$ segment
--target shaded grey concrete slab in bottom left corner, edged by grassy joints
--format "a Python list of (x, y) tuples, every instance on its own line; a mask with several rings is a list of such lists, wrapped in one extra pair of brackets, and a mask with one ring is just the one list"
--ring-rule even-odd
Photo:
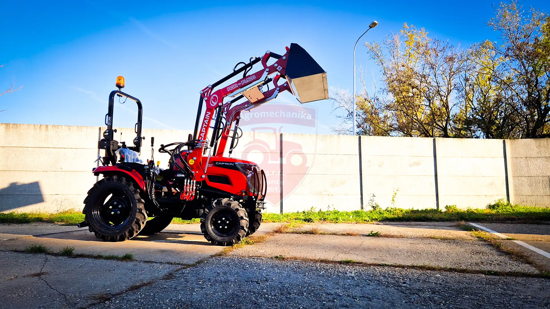
[(83, 308), (178, 268), (0, 251), (0, 308)]

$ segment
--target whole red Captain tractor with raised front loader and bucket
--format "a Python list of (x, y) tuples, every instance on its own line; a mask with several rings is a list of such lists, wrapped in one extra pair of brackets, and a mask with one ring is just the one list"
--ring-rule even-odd
[[(262, 68), (248, 74), (259, 62)], [(241, 73), (242, 78), (222, 86)], [(271, 101), (283, 91), (289, 91), (301, 103), (327, 99), (326, 76), (305, 49), (295, 43), (283, 55), (267, 51), (262, 57), (250, 58), (248, 63), (238, 63), (231, 74), (200, 91), (195, 130), (188, 141), (161, 145), (158, 149), (170, 155), (168, 169), (158, 168), (153, 160), (145, 163), (139, 159), (141, 141), (145, 139), (141, 136), (141, 102), (120, 91), (124, 78), (119, 76), (118, 90), (109, 95), (107, 130), (98, 143), (98, 148), (105, 150), (103, 165), (93, 170), (103, 179), (88, 191), (85, 220), (78, 226), (89, 227), (90, 232), (105, 241), (124, 241), (138, 234), (158, 233), (174, 217), (200, 218), (205, 238), (224, 246), (254, 233), (265, 208), (265, 173), (254, 162), (224, 157), (228, 140), (230, 155), (241, 136), (240, 112)], [(124, 142), (119, 145), (114, 140), (115, 96), (138, 104), (134, 146)], [(153, 142), (151, 137), (151, 146)]]

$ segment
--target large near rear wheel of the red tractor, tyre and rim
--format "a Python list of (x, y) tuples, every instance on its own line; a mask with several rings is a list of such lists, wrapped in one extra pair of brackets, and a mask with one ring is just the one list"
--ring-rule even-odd
[(84, 200), (89, 230), (103, 241), (131, 239), (145, 227), (147, 213), (140, 189), (122, 176), (107, 176)]

